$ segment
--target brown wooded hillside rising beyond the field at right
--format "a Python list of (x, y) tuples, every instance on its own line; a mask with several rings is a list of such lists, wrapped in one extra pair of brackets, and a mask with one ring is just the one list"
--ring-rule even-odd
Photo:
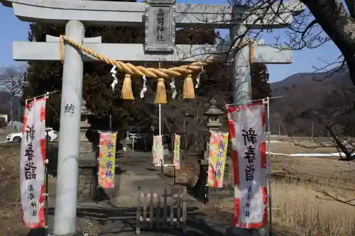
[[(285, 96), (271, 102), (271, 132), (278, 133), (280, 125), (283, 135), (310, 135), (312, 122), (314, 134), (325, 135), (324, 124), (315, 116), (320, 113), (322, 120), (329, 120), (339, 107), (349, 106), (355, 88), (346, 69), (339, 68), (322, 73), (300, 73), (271, 84), (273, 96)], [(355, 115), (351, 115), (355, 118)], [(346, 123), (349, 116), (337, 123)]]

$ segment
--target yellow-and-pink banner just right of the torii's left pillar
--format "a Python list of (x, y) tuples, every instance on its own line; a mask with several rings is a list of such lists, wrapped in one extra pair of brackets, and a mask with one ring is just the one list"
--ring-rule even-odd
[(114, 188), (117, 133), (100, 133), (99, 144), (99, 186)]

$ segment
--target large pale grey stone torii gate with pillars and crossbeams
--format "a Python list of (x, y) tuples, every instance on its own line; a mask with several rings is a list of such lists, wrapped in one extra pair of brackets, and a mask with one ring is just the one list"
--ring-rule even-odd
[[(304, 10), (297, 0), (288, 1), (275, 16), (270, 9), (263, 21), (252, 14), (246, 21), (240, 18), (243, 9), (229, 5), (175, 4), (175, 0), (146, 0), (143, 2), (112, 1), (56, 1), (56, 0), (0, 0), (4, 6), (13, 8), (21, 21), (66, 25), (65, 36), (82, 43), (94, 52), (111, 60), (129, 62), (158, 62), (162, 55), (168, 62), (196, 62), (204, 60), (208, 52), (219, 52), (217, 45), (175, 45), (175, 28), (208, 27), (229, 28), (231, 41), (247, 28), (284, 28), (292, 22), (293, 15)], [(291, 10), (289, 10), (291, 9)], [(160, 23), (154, 18), (163, 13)], [(165, 22), (165, 23), (162, 23)], [(83, 24), (84, 23), (84, 24)], [(146, 26), (146, 43), (105, 44), (101, 38), (84, 38), (85, 26)], [(163, 26), (159, 37), (155, 28)], [(168, 40), (161, 40), (162, 38)], [(192, 52), (192, 56), (191, 56)], [(181, 60), (181, 57), (189, 57)], [(59, 39), (48, 37), (45, 43), (14, 42), (13, 59), (60, 60)], [(82, 102), (83, 62), (96, 60), (65, 45), (62, 77), (62, 101), (60, 112), (60, 140), (58, 153), (58, 180), (55, 197), (55, 235), (75, 235), (77, 210), (77, 176), (80, 141), (80, 107)], [(246, 46), (234, 53), (234, 103), (251, 101), (250, 64), (288, 64), (292, 62), (291, 51), (279, 51), (264, 45)], [(65, 113), (65, 106), (75, 107)], [(70, 125), (67, 125), (70, 124)]]

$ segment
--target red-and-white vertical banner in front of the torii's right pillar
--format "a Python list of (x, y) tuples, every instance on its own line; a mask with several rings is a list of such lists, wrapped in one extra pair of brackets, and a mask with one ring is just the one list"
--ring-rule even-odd
[(266, 225), (266, 107), (263, 103), (228, 108), (234, 164), (234, 225)]

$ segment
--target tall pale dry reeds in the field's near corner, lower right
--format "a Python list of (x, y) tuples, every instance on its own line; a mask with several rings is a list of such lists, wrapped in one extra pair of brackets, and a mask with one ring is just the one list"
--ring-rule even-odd
[[(307, 181), (273, 181), (272, 211), (275, 230), (294, 235), (355, 235), (354, 190)], [(322, 193), (320, 191), (326, 191)], [(346, 203), (335, 201), (336, 197)]]

